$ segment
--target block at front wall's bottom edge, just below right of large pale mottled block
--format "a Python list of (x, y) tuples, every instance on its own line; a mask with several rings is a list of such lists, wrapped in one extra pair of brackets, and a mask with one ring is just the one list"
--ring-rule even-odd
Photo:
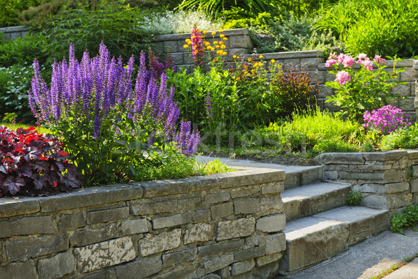
[(161, 257), (144, 257), (137, 261), (116, 266), (118, 279), (141, 279), (162, 271)]

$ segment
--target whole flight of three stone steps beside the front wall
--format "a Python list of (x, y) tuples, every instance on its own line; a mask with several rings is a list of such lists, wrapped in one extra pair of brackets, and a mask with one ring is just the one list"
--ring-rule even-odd
[(389, 211), (347, 206), (350, 184), (322, 181), (322, 167), (285, 171), (287, 248), (281, 274), (307, 269), (389, 228)]

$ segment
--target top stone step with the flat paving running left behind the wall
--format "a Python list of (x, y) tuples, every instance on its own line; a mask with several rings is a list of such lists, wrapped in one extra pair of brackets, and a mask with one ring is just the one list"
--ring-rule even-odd
[[(215, 160), (209, 156), (196, 156), (196, 160), (199, 163), (208, 163), (211, 160)], [(246, 167), (262, 167), (267, 169), (281, 169), (286, 172), (286, 179), (284, 180), (284, 188), (291, 189), (316, 183), (323, 179), (323, 167), (322, 166), (288, 166), (278, 165), (271, 163), (257, 163), (252, 160), (241, 160), (231, 158), (219, 158), (221, 162), (226, 163), (231, 167), (237, 169), (245, 169)]]

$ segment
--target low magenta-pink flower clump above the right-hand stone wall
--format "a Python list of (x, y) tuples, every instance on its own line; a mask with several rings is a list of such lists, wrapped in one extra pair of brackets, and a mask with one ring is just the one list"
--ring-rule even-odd
[(385, 105), (371, 113), (364, 112), (364, 127), (380, 130), (387, 135), (398, 128), (407, 128), (411, 125), (408, 114), (404, 114), (401, 109), (392, 105)]

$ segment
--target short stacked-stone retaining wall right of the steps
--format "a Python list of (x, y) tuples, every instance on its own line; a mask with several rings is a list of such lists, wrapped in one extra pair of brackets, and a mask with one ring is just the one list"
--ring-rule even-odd
[(323, 153), (316, 161), (324, 167), (324, 179), (360, 190), (364, 206), (396, 212), (418, 204), (418, 150)]

